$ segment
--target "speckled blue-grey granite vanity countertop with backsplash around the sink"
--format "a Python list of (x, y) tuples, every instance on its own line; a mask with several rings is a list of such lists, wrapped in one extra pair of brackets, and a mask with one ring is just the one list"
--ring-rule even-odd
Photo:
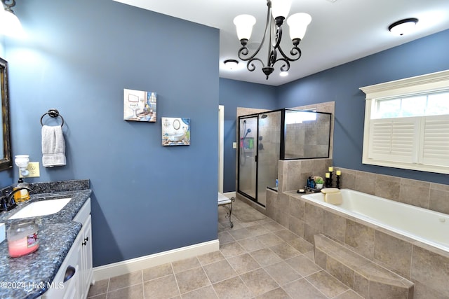
[(10, 258), (7, 241), (0, 244), (0, 281), (6, 282), (0, 286), (0, 298), (37, 298), (47, 291), (48, 284), (53, 281), (81, 230), (81, 223), (72, 219), (91, 196), (88, 180), (30, 185), (32, 192), (28, 202), (20, 203), (15, 209), (0, 214), (0, 222), (6, 223), (6, 229), (11, 224), (11, 221), (7, 220), (8, 217), (28, 203), (65, 197), (72, 197), (72, 200), (58, 213), (35, 217), (36, 223), (39, 224), (39, 249), (34, 253)]

